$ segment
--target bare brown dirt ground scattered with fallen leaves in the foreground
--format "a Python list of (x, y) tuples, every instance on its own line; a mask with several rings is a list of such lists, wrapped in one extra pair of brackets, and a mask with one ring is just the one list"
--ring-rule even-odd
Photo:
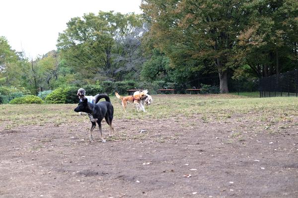
[(88, 142), (87, 118), (1, 130), (0, 197), (297, 198), (298, 126), (250, 133), (245, 116), (115, 119), (127, 139), (103, 123), (106, 143)]

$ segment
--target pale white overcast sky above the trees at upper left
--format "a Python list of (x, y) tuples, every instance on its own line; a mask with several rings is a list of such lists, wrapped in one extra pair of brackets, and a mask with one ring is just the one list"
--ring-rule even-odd
[(141, 0), (1, 0), (0, 36), (35, 59), (57, 49), (58, 33), (72, 17), (99, 10), (141, 13)]

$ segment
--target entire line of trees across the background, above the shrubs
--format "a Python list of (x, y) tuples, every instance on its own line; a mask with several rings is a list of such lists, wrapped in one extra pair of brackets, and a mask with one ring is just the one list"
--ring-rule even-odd
[(74, 17), (58, 50), (35, 60), (1, 36), (0, 94), (127, 80), (191, 86), (211, 78), (227, 93), (231, 80), (298, 68), (297, 0), (143, 0), (141, 8), (141, 15)]

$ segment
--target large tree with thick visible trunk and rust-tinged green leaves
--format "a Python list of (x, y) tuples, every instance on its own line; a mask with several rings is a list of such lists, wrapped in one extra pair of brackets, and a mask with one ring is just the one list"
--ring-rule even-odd
[(175, 66), (215, 66), (221, 93), (226, 93), (240, 28), (240, 5), (238, 0), (144, 0), (141, 7), (152, 24), (155, 46)]

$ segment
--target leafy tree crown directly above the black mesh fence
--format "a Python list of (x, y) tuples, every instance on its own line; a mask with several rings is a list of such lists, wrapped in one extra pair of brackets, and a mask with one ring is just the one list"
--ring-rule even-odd
[(244, 27), (237, 42), (237, 58), (261, 77), (297, 67), (298, 1), (251, 0), (242, 6)]

